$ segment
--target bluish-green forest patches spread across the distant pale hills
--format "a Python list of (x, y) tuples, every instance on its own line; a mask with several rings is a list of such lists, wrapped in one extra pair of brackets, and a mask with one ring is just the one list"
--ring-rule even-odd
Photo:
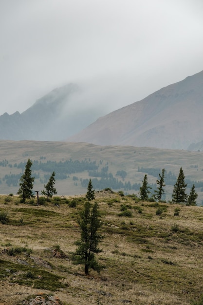
[[(88, 176), (92, 178), (92, 185), (95, 189), (105, 189), (111, 188), (113, 190), (124, 189), (125, 191), (139, 191), (141, 184), (140, 183), (131, 183), (130, 181), (125, 181), (127, 172), (124, 170), (117, 171), (115, 176), (109, 171), (108, 163), (102, 167), (102, 160), (99, 160), (98, 164), (96, 160), (84, 159), (84, 160), (62, 160), (59, 162), (56, 161), (45, 161), (46, 157), (40, 157), (40, 161), (34, 160), (32, 165), (32, 174), (36, 179), (40, 179), (40, 183), (47, 183), (49, 180), (50, 174), (55, 172), (55, 179), (62, 180), (69, 178), (70, 174), (76, 174), (80, 172), (88, 172)], [(2, 181), (5, 181), (8, 187), (19, 185), (19, 179), (24, 172), (27, 161), (20, 162), (19, 164), (11, 164), (8, 160), (0, 161), (0, 167), (8, 167), (9, 174), (7, 173), (0, 179), (0, 184)], [(17, 168), (21, 170), (19, 173), (11, 173), (12, 168)], [(43, 173), (41, 173), (41, 172)], [(160, 168), (144, 168), (138, 167), (138, 172), (147, 173), (159, 178), (159, 173), (162, 172)], [(79, 179), (76, 175), (73, 176), (74, 184), (81, 184), (82, 187), (87, 188), (89, 179)], [(166, 185), (174, 185), (176, 183), (177, 176), (170, 172), (165, 172), (165, 183)], [(191, 188), (195, 184), (196, 188), (203, 189), (203, 182), (201, 181), (192, 181), (185, 178), (185, 183), (187, 187)], [(150, 184), (152, 191), (156, 189), (156, 184)]]

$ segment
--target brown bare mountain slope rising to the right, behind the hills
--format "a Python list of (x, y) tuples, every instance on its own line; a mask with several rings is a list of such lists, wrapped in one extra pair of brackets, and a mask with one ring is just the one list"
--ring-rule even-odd
[(203, 71), (98, 118), (68, 141), (187, 149), (203, 140)]

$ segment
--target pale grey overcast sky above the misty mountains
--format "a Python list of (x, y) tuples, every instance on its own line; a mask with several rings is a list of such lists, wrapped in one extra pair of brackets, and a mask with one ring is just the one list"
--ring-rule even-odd
[(0, 0), (0, 114), (74, 82), (105, 113), (203, 70), (203, 0)]

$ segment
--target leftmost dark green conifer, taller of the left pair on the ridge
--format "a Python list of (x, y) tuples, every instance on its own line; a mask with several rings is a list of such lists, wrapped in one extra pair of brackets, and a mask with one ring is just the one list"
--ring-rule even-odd
[(33, 183), (35, 180), (35, 177), (32, 177), (32, 166), (33, 162), (28, 159), (27, 164), (25, 166), (25, 172), (20, 177), (20, 183), (19, 183), (19, 190), (17, 194), (22, 197), (23, 202), (25, 202), (25, 199), (30, 199), (33, 197)]

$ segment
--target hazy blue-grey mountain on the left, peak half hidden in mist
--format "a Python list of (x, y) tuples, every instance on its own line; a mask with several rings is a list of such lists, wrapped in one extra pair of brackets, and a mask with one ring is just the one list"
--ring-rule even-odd
[[(56, 88), (22, 114), (16, 112), (1, 115), (0, 139), (63, 140), (99, 116), (99, 110), (93, 109), (90, 112), (88, 107), (81, 106), (81, 100), (81, 89), (76, 84)], [(85, 104), (83, 102), (82, 100), (82, 104)]]

